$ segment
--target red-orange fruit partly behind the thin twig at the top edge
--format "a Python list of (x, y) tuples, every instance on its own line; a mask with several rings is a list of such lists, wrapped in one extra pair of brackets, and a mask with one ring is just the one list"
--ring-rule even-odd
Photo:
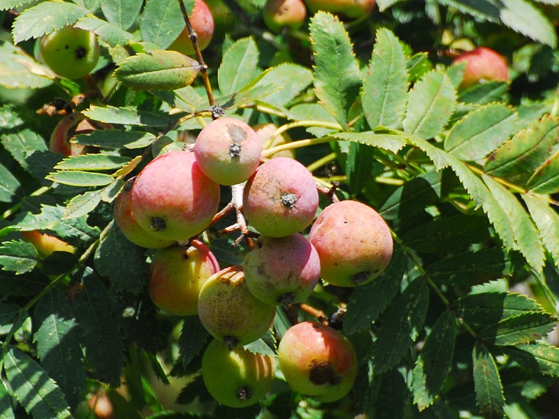
[[(196, 38), (198, 47), (203, 51), (210, 45), (210, 41), (212, 41), (212, 36), (214, 34), (214, 18), (212, 16), (212, 11), (203, 0), (196, 0), (189, 20), (192, 29), (194, 29), (194, 32), (196, 32), (198, 36), (198, 38)], [(192, 41), (188, 34), (188, 28), (184, 28), (170, 47), (168, 47), (168, 50), (178, 51), (184, 55), (193, 55), (195, 53), (194, 45), (192, 45)]]

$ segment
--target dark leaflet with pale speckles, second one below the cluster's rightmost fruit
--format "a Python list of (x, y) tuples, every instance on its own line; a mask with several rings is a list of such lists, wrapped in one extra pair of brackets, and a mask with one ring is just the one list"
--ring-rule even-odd
[(375, 372), (386, 372), (395, 367), (409, 351), (423, 329), (428, 305), (429, 289), (421, 278), (409, 284), (393, 300), (380, 318), (381, 326), (372, 346)]

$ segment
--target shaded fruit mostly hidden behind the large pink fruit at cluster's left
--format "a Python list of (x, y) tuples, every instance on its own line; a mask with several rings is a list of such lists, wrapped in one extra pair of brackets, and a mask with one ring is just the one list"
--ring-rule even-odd
[(130, 208), (130, 198), (132, 196), (131, 189), (135, 180), (135, 178), (132, 178), (126, 181), (122, 191), (120, 191), (117, 198), (115, 198), (113, 215), (117, 227), (128, 240), (137, 246), (146, 247), (147, 249), (169, 247), (174, 243), (173, 240), (160, 239), (138, 226), (138, 222), (134, 218)]

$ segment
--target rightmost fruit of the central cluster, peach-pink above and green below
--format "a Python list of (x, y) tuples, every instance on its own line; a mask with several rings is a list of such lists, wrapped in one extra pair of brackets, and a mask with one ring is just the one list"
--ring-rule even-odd
[(378, 277), (392, 258), (389, 226), (375, 210), (354, 200), (328, 205), (309, 240), (320, 258), (320, 276), (337, 286), (360, 286)]

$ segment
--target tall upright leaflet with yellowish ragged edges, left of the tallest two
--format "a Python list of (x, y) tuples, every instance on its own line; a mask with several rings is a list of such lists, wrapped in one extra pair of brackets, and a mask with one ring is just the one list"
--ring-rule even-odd
[(361, 74), (343, 24), (330, 13), (318, 12), (309, 26), (314, 53), (314, 94), (345, 128), (351, 105), (361, 89)]

